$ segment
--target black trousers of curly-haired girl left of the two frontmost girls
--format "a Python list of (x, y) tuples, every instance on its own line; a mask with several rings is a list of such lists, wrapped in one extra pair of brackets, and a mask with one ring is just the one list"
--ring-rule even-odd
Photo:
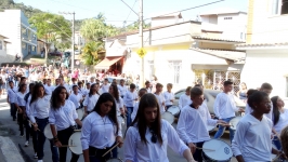
[[(57, 131), (57, 137), (62, 145), (68, 145), (69, 137), (74, 133), (74, 129), (68, 127), (62, 131)], [(67, 154), (67, 147), (61, 147), (58, 148), (60, 152), (60, 162), (66, 162), (66, 154)], [(79, 159), (78, 154), (75, 154), (71, 152), (71, 160), (70, 162), (77, 162)]]

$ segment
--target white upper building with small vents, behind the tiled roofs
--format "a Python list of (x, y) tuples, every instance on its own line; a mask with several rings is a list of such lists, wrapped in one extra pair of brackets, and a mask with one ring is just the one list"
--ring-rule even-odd
[(220, 39), (246, 40), (247, 13), (217, 9), (200, 14), (202, 31), (221, 32)]

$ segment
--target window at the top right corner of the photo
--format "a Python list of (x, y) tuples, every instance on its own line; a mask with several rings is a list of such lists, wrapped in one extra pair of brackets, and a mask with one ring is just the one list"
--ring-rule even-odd
[(272, 14), (288, 14), (288, 0), (272, 0)]

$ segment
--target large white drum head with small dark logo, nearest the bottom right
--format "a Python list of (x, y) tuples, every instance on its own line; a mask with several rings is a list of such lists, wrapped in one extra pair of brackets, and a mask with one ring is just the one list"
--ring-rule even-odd
[[(228, 146), (228, 144), (220, 139), (211, 139), (211, 140), (205, 141), (202, 145), (202, 148), (204, 148), (202, 152), (210, 160), (228, 161), (233, 156), (232, 149)], [(206, 149), (210, 149), (210, 150), (206, 150)]]

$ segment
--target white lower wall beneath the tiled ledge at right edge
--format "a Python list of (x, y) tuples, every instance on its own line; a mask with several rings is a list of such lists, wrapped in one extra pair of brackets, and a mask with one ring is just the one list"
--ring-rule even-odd
[(247, 51), (241, 81), (246, 82), (249, 89), (260, 87), (262, 83), (269, 82), (273, 86), (271, 96), (286, 96), (287, 54), (287, 50)]

